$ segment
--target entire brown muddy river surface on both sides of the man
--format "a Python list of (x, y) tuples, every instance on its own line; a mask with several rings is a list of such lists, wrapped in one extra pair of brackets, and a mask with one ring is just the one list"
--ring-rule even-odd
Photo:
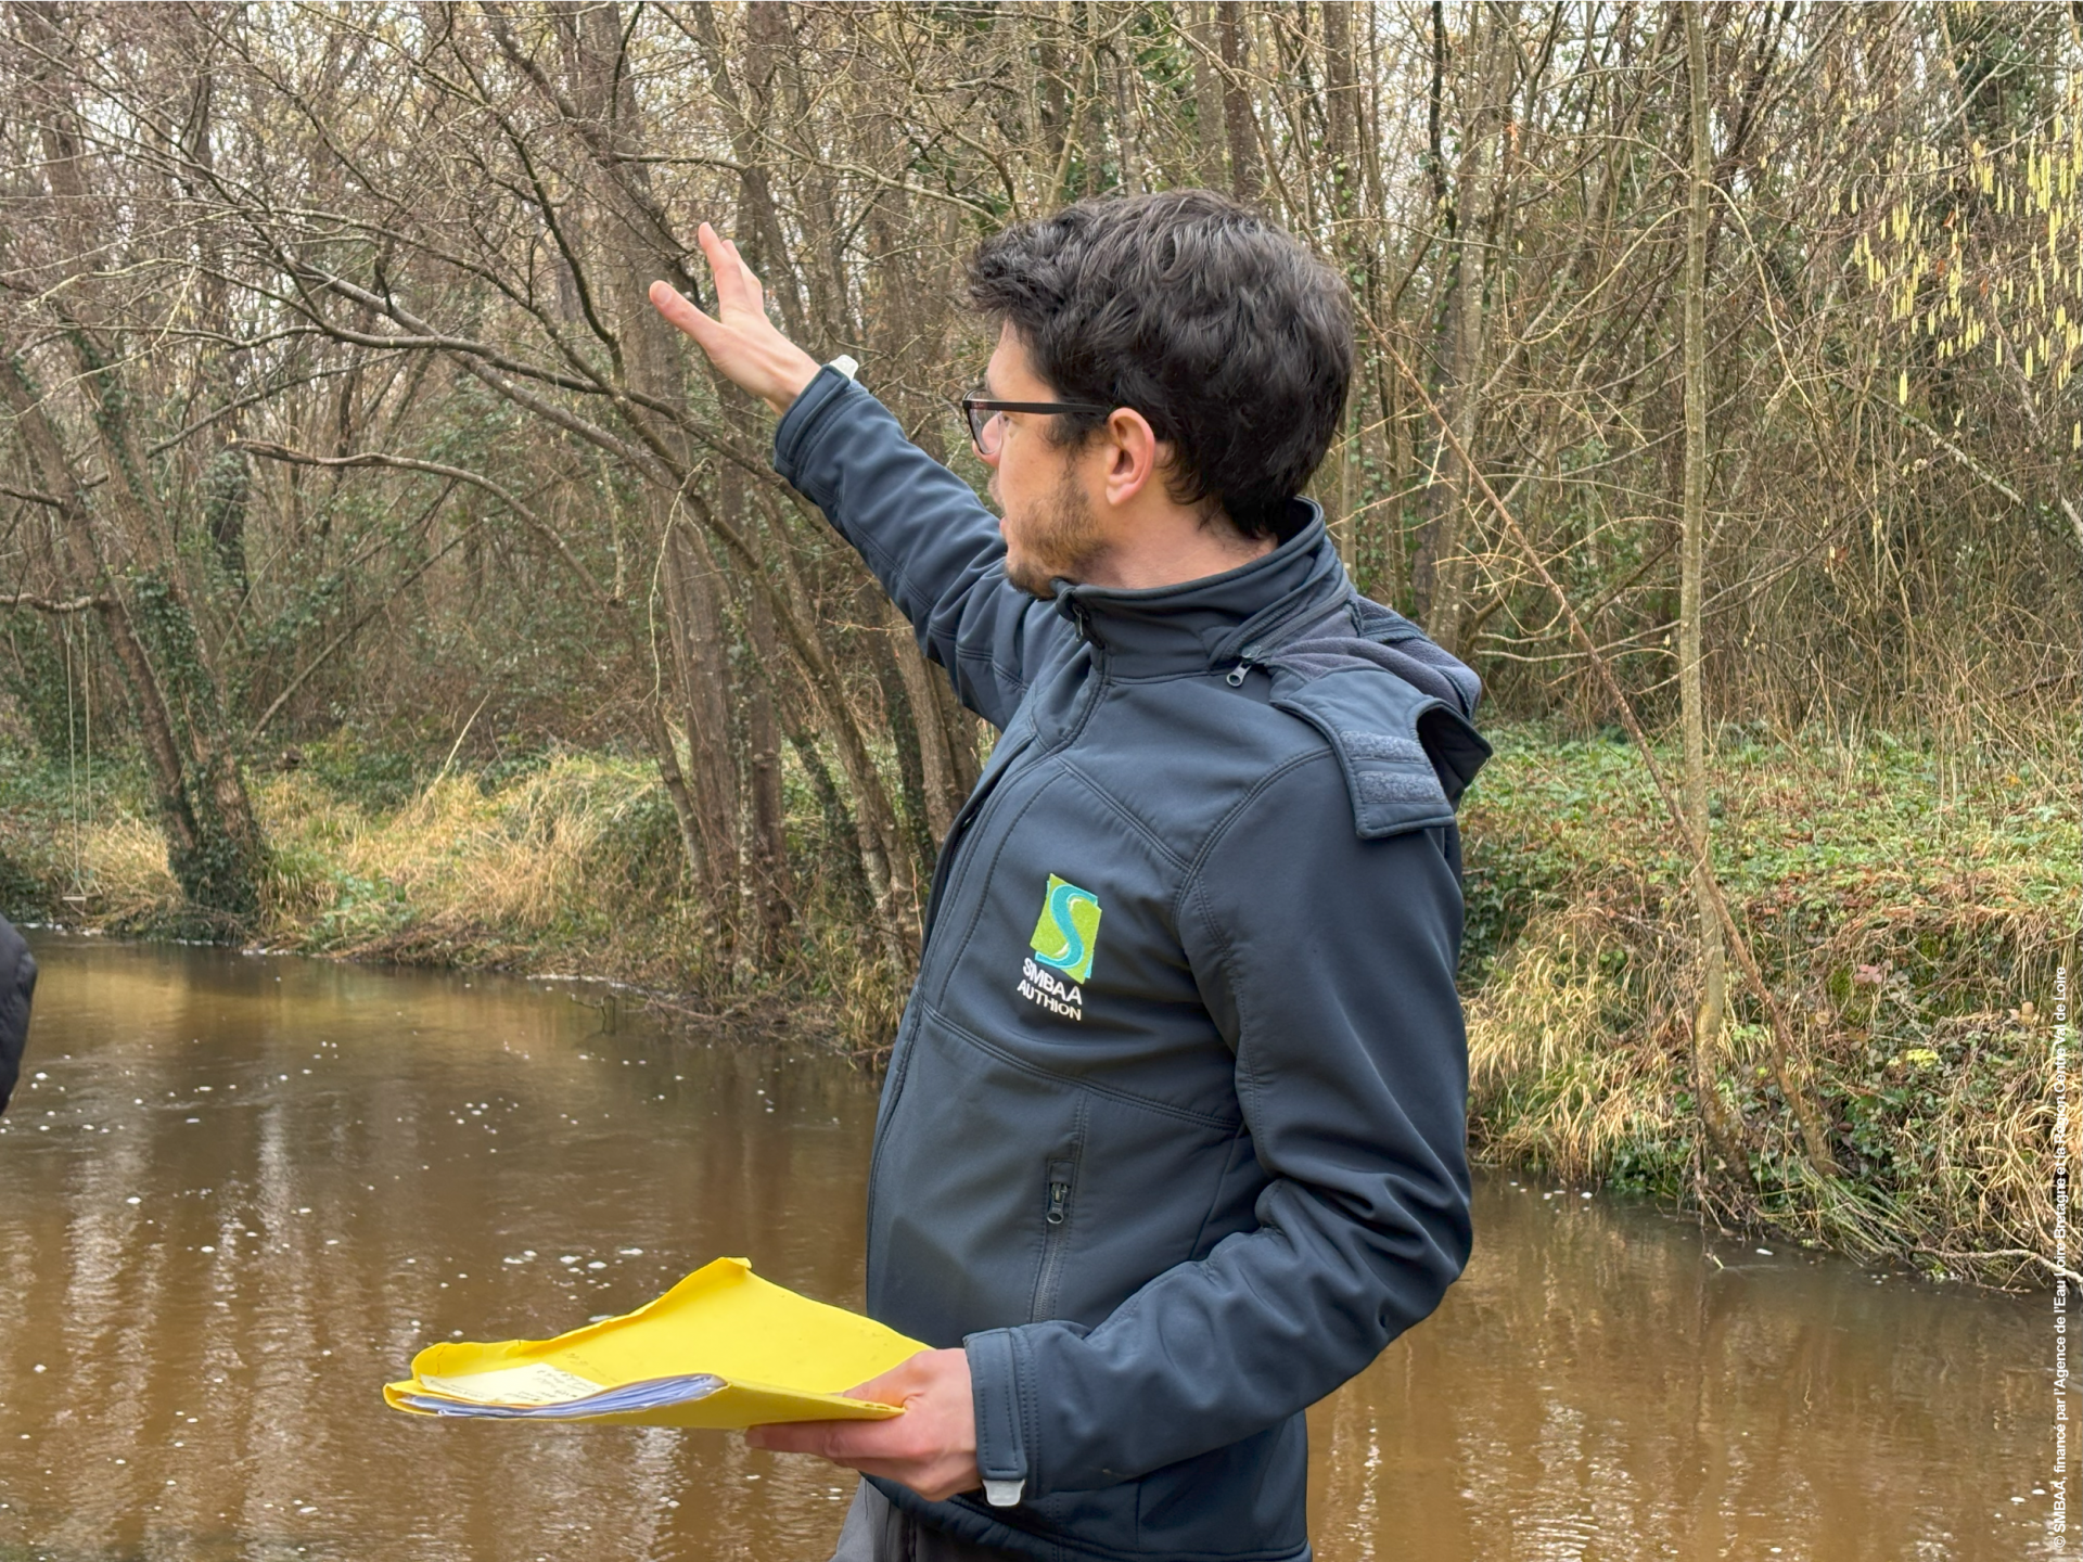
[[(0, 1560), (827, 1556), (825, 1466), (377, 1387), (719, 1254), (858, 1304), (873, 1081), (606, 1031), (552, 983), (40, 956), (0, 1120)], [(1466, 1277), (1312, 1412), (1323, 1562), (2068, 1554), (2033, 1491), (2050, 1304), (1523, 1183), (1481, 1179)]]

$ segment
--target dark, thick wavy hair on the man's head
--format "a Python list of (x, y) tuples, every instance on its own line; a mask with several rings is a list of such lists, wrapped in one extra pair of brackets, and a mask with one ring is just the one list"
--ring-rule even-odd
[[(1266, 217), (1212, 190), (1081, 200), (979, 244), (969, 300), (1056, 396), (1141, 412), (1175, 450), (1179, 504), (1216, 500), (1248, 537), (1294, 531), (1346, 410), (1352, 298)], [(1052, 437), (1104, 421), (1058, 412)]]

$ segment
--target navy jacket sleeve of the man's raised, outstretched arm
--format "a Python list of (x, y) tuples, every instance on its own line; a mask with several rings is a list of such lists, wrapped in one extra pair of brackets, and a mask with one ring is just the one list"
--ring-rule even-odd
[(969, 483), (835, 369), (775, 429), (775, 471), (860, 552), (962, 704), (1004, 727), (1071, 627), (1006, 579), (998, 519)]

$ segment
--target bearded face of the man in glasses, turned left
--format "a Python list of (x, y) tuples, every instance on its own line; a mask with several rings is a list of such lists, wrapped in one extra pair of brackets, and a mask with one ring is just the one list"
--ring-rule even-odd
[[(1027, 348), (1004, 327), (983, 373), (983, 394), (998, 402), (1056, 402), (1027, 362)], [(1054, 596), (1052, 581), (1083, 581), (1108, 552), (1079, 446), (1050, 442), (1048, 412), (1000, 412), (998, 450), (983, 456), (992, 469), (989, 494), (998, 500), (1006, 537), (1006, 579), (1037, 598)]]

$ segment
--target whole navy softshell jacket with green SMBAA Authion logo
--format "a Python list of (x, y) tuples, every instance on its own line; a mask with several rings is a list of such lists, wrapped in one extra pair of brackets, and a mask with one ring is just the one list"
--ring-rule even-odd
[(1352, 589), (1304, 500), (1241, 569), (1035, 602), (844, 375), (775, 467), (1002, 729), (869, 1173), (869, 1312), (967, 1345), (985, 1489), (875, 1487), (1029, 1558), (1308, 1558), (1304, 1408), (1469, 1258), (1475, 675)]

